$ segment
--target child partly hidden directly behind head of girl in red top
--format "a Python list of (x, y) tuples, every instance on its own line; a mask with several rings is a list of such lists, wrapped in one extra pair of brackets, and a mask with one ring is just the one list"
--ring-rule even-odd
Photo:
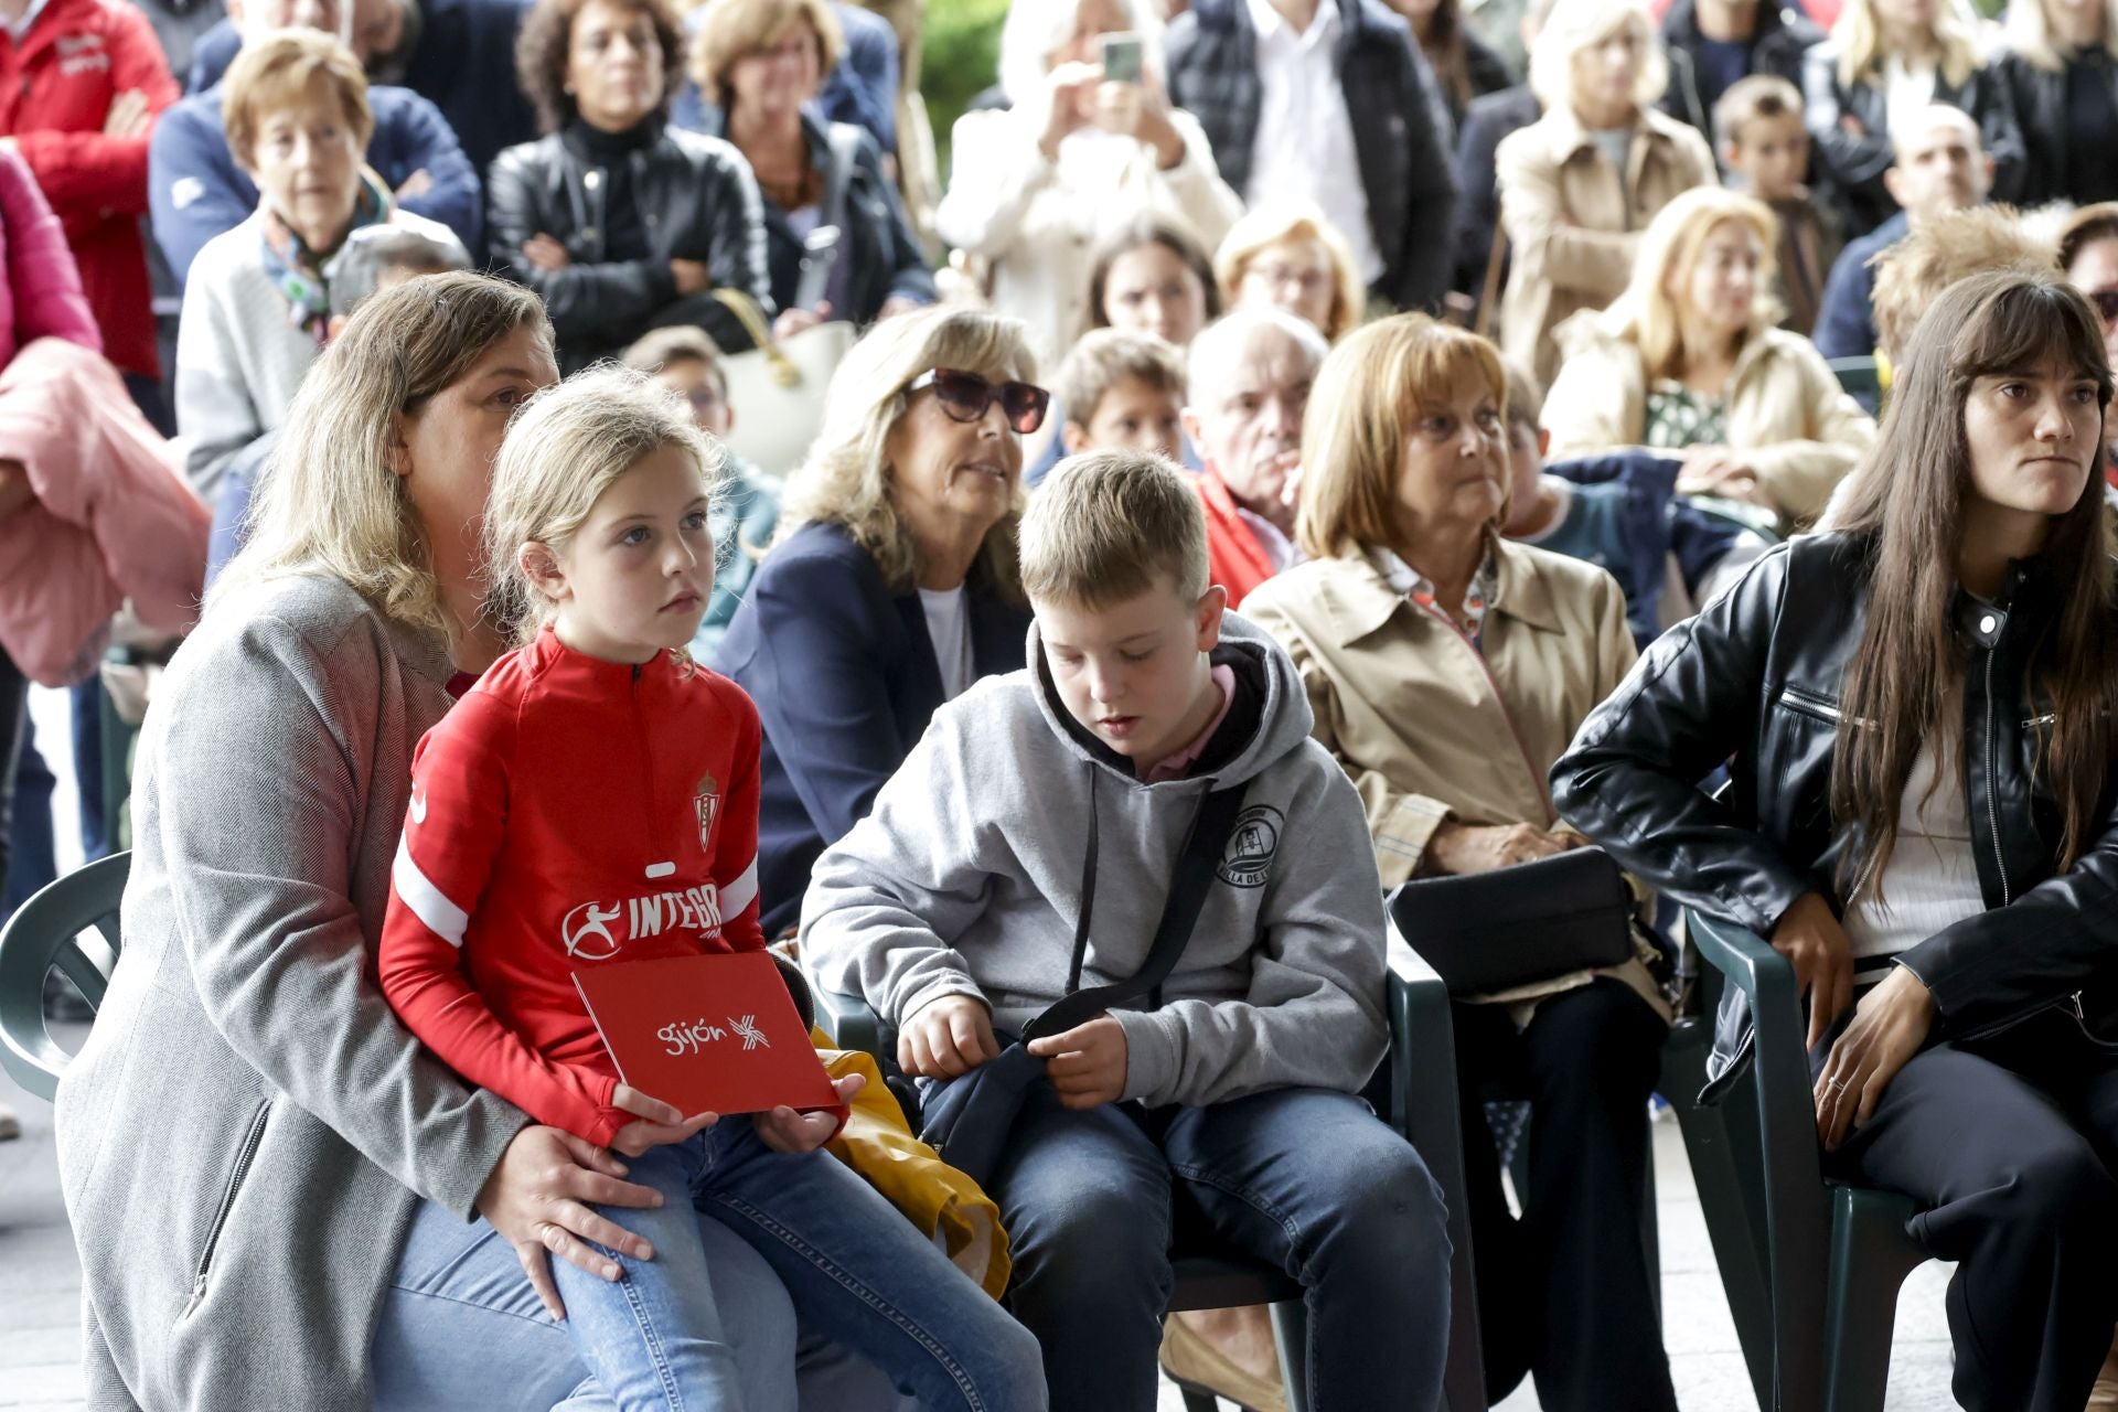
[(729, 373), (720, 366), (720, 347), (703, 328), (657, 328), (625, 349), (625, 366), (690, 402), (690, 419), (722, 445), (720, 487), (707, 519), (714, 531), (714, 597), (690, 639), (690, 654), (712, 667), (729, 618), (758, 574), (758, 557), (779, 527), (777, 487), (767, 487), (756, 466), (726, 449), (735, 430)]

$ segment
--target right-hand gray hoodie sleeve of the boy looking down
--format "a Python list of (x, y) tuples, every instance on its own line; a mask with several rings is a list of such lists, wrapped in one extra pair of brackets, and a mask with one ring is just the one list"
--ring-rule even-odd
[(1290, 764), (1303, 779), (1267, 879), (1250, 993), (1118, 1012), (1127, 1099), (1197, 1107), (1264, 1088), (1358, 1092), (1389, 1048), (1383, 889), (1360, 796), (1311, 741)]

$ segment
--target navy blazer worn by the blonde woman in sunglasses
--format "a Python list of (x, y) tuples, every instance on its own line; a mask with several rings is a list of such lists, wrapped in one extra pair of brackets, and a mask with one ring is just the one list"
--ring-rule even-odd
[[(981, 677), (1025, 663), (1029, 610), (970, 584)], [(809, 868), (875, 804), (943, 703), (919, 593), (892, 593), (839, 525), (803, 525), (750, 580), (720, 671), (765, 722), (758, 898), (765, 936), (801, 919)]]

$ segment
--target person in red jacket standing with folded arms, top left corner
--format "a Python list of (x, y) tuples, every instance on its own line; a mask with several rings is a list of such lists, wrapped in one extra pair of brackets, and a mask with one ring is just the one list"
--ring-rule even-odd
[(148, 133), (176, 93), (155, 28), (125, 0), (0, 0), (0, 144), (30, 163), (66, 227), (104, 356), (165, 432), (140, 218)]

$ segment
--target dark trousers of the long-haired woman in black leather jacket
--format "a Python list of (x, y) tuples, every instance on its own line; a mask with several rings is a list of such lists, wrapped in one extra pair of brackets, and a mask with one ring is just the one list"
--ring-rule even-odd
[[(1811, 1065), (1821, 1069), (1828, 1042)], [(1904, 1192), (1949, 1281), (1955, 1395), (1970, 1412), (2082, 1412), (2118, 1323), (2118, 1054), (2046, 1012), (1936, 1044), (1828, 1158)]]

